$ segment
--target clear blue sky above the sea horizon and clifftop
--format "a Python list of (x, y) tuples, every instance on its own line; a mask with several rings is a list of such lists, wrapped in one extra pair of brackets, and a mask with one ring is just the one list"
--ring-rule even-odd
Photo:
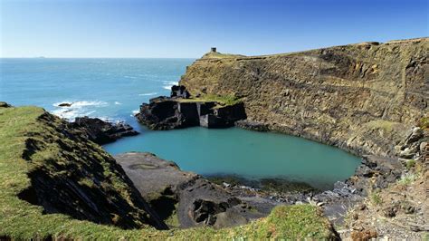
[(0, 57), (198, 58), (429, 35), (426, 0), (0, 0)]

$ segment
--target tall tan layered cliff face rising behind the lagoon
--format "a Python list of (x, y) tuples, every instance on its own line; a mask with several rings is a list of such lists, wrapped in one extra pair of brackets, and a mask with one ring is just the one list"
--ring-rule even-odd
[(256, 57), (207, 53), (180, 84), (243, 97), (249, 121), (357, 154), (393, 156), (428, 112), (429, 39)]

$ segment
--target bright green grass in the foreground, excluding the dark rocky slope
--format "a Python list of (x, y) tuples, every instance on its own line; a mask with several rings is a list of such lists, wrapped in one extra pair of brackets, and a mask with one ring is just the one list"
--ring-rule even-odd
[[(37, 120), (44, 113), (36, 107), (0, 107), (0, 238), (16, 239), (69, 237), (85, 239), (195, 239), (233, 237), (286, 237), (331, 236), (329, 222), (321, 217), (318, 207), (309, 205), (276, 207), (269, 217), (243, 227), (215, 230), (209, 227), (158, 231), (147, 227), (123, 230), (119, 227), (79, 221), (62, 214), (43, 215), (43, 208), (17, 198), (30, 185), (27, 173), (33, 163), (22, 159), (25, 140), (34, 132), (46, 131)], [(59, 120), (58, 120), (59, 121)], [(37, 157), (37, 155), (35, 155)], [(43, 161), (43, 159), (40, 159)], [(61, 158), (58, 157), (58, 161)], [(43, 164), (43, 163), (42, 163)]]

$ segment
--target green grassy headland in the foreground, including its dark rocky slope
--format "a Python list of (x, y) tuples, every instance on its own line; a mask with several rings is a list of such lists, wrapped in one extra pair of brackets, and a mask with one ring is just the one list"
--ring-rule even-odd
[(0, 143), (0, 239), (333, 235), (309, 205), (277, 207), (243, 227), (157, 230), (162, 223), (116, 161), (41, 108), (0, 105)]

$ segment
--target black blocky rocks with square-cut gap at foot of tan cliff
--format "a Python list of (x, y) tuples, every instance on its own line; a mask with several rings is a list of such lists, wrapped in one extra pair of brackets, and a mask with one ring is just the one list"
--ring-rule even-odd
[(172, 130), (193, 126), (225, 128), (246, 118), (243, 102), (224, 104), (219, 101), (190, 99), (184, 86), (173, 86), (171, 97), (157, 97), (143, 103), (138, 121), (152, 130)]

